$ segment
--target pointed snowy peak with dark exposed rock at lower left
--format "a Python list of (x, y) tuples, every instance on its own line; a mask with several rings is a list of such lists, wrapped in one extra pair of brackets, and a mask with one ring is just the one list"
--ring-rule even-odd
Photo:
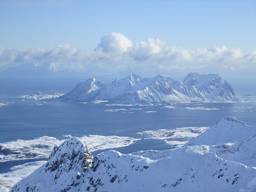
[(92, 159), (79, 139), (70, 138), (55, 146), (47, 163), (14, 185), (11, 191), (78, 191)]

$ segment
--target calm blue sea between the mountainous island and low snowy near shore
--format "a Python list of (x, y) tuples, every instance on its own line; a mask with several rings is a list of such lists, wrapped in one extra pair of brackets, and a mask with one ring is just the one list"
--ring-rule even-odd
[[(211, 126), (221, 118), (229, 116), (236, 117), (248, 125), (256, 124), (256, 102), (175, 104), (173, 106), (176, 109), (166, 109), (163, 106), (106, 106), (27, 99), (22, 101), (13, 96), (2, 96), (0, 102), (14, 102), (0, 107), (1, 143), (45, 135), (59, 139), (63, 139), (63, 135), (116, 135), (140, 138), (138, 132)], [(149, 111), (152, 113), (145, 113)]]

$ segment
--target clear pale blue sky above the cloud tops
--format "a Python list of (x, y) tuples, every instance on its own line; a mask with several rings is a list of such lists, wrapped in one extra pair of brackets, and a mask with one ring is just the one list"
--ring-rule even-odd
[(9, 49), (97, 47), (121, 33), (134, 42), (256, 49), (256, 1), (1, 1), (0, 42)]

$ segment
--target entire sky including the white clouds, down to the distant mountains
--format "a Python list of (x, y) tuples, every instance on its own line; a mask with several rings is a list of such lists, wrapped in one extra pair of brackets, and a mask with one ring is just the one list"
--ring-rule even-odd
[(256, 87), (255, 20), (255, 0), (2, 0), (0, 66), (176, 80), (217, 73)]

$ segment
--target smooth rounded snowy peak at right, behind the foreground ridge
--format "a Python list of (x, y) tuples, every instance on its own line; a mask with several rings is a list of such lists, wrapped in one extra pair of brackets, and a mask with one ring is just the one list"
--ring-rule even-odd
[(242, 141), (256, 135), (256, 127), (248, 126), (234, 117), (221, 119), (187, 145), (214, 145)]

